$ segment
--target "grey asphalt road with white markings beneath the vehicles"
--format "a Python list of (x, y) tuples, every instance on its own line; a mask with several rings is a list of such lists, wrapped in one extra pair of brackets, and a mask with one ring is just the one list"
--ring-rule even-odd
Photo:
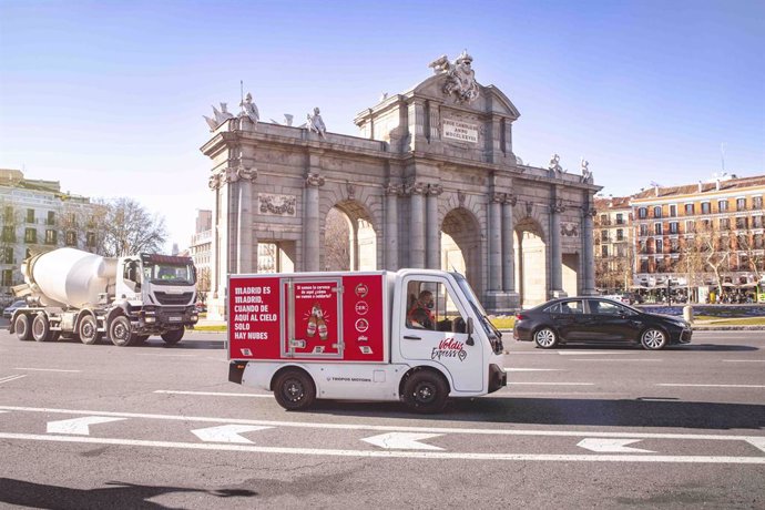
[[(509, 335), (508, 335), (509, 336)], [(227, 381), (225, 334), (175, 347), (0, 330), (0, 508), (765, 508), (765, 334), (540, 350), (442, 415)]]

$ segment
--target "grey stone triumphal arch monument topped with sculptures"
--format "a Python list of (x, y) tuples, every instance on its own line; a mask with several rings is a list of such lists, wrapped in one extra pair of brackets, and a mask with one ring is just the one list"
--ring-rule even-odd
[[(594, 293), (600, 187), (586, 162), (581, 174), (564, 171), (558, 156), (547, 169), (524, 165), (512, 146), (520, 113), (476, 80), (472, 58), (443, 55), (429, 67), (430, 78), (356, 116), (360, 136), (333, 133), (318, 108), (299, 126), (261, 122), (249, 94), (236, 116), (223, 103), (213, 109), (202, 146), (213, 162), (211, 316), (224, 313), (228, 274), (257, 271), (259, 243), (278, 245), (295, 271), (322, 271), (326, 217), (338, 204), (364, 211), (378, 269), (440, 268), (448, 233), (491, 312), (520, 305), (514, 261), (523, 224), (537, 225), (545, 246), (533, 268), (545, 274), (540, 295)], [(574, 278), (563, 277), (564, 259)]]

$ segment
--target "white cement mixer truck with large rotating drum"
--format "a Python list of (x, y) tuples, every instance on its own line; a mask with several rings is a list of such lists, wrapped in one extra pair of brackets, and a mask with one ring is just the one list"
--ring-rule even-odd
[(11, 316), (20, 340), (60, 336), (95, 344), (137, 345), (151, 335), (177, 344), (196, 324), (196, 272), (190, 257), (142, 253), (108, 258), (74, 248), (34, 254), (13, 287), (28, 306)]

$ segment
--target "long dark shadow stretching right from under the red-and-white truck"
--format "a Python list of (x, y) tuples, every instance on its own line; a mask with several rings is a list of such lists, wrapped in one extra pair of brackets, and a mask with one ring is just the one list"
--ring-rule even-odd
[[(765, 429), (765, 406), (687, 402), (645, 396), (635, 400), (480, 397), (452, 399), (440, 415), (415, 415), (398, 402), (318, 400), (313, 412), (513, 425), (663, 427), (707, 430)], [(424, 424), (418, 424), (424, 426)]]

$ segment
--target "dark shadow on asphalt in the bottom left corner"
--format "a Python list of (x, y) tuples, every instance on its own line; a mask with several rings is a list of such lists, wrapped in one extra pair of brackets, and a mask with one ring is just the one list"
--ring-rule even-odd
[(149, 501), (170, 492), (200, 492), (217, 498), (254, 497), (257, 492), (243, 489), (192, 489), (187, 487), (139, 486), (125, 482), (106, 482), (100, 489), (72, 489), (69, 487), (33, 483), (12, 478), (0, 478), (0, 503), (45, 509), (130, 508), (164, 509), (165, 506)]

